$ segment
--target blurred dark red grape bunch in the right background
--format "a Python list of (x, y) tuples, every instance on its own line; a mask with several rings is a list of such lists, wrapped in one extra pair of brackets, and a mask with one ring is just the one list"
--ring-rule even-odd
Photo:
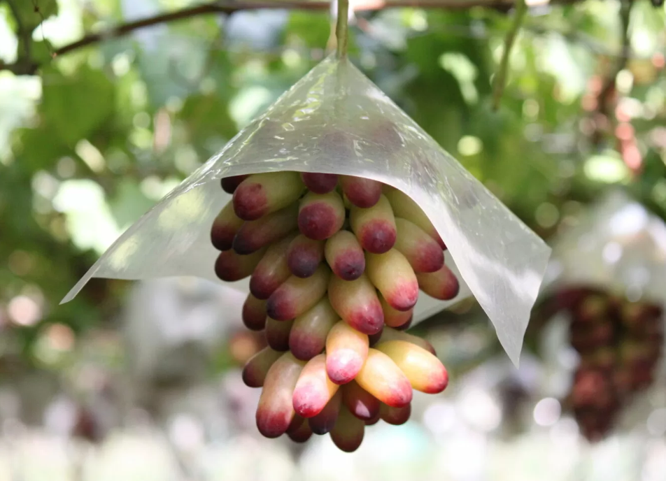
[(663, 309), (586, 287), (563, 289), (556, 303), (571, 315), (570, 341), (581, 359), (567, 403), (583, 436), (600, 440), (632, 396), (654, 382)]

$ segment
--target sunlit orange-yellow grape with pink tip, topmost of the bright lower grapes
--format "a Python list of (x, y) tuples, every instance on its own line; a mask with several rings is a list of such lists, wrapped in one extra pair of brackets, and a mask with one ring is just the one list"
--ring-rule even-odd
[(344, 321), (336, 323), (326, 338), (326, 372), (336, 384), (346, 384), (361, 370), (368, 356), (368, 336)]

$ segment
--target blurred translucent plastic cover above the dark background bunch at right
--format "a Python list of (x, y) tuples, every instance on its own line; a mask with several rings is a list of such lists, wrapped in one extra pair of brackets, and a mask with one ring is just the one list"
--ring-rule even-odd
[(552, 245), (544, 292), (588, 285), (666, 306), (666, 225), (624, 192), (602, 197)]

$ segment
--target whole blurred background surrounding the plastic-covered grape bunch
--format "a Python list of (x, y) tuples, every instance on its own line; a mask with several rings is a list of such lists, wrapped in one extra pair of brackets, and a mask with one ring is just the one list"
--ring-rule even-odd
[[(257, 433), (240, 370), (261, 341), (222, 285), (98, 279), (59, 306), (325, 57), (331, 8), (0, 0), (1, 481), (666, 479), (663, 1), (528, 0), (497, 111), (512, 3), (391, 3), (352, 1), (350, 58), (557, 246), (520, 368), (463, 302), (412, 329), (448, 389), (343, 454)], [(190, 14), (104, 34), (169, 12)]]

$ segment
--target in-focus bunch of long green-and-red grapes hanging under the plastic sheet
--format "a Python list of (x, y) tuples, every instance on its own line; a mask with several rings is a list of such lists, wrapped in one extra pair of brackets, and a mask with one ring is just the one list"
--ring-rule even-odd
[(211, 241), (221, 280), (250, 277), (243, 324), (267, 343), (243, 368), (261, 387), (257, 429), (353, 452), (365, 426), (403, 424), (412, 389), (442, 392), (446, 368), (404, 332), (419, 289), (453, 299), (458, 280), (423, 210), (381, 182), (293, 171), (222, 179), (233, 194)]

